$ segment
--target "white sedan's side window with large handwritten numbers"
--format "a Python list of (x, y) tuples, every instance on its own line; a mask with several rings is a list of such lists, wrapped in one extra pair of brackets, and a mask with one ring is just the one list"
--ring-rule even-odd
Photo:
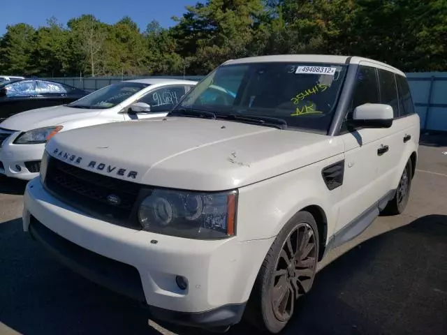
[(151, 112), (169, 112), (177, 105), (180, 98), (185, 94), (183, 85), (161, 87), (154, 89), (138, 100), (139, 103), (147, 103), (151, 106)]

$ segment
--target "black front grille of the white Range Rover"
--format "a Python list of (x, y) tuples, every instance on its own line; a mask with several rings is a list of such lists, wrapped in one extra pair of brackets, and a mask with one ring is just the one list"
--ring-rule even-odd
[[(141, 229), (136, 214), (133, 214), (140, 192), (138, 184), (83, 170), (50, 156), (45, 188), (54, 197), (91, 216)], [(109, 195), (118, 197), (119, 204), (110, 204)]]

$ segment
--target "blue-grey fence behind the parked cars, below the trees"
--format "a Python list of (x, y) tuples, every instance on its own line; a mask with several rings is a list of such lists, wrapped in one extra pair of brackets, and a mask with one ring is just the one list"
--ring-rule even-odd
[[(406, 73), (416, 112), (420, 117), (420, 128), (425, 131), (447, 131), (447, 72)], [(62, 82), (86, 91), (95, 91), (115, 82), (142, 78), (169, 78), (202, 80), (203, 75), (165, 76), (115, 76), (115, 77), (57, 77), (46, 78)]]

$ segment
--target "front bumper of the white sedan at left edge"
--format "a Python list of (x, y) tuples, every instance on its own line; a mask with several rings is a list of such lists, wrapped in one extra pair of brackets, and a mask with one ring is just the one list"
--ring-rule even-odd
[(0, 174), (23, 180), (38, 176), (45, 144), (13, 144), (11, 135), (0, 147)]

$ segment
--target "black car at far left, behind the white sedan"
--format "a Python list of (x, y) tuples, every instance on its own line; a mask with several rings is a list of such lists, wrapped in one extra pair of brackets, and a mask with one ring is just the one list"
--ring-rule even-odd
[(59, 82), (11, 79), (0, 84), (0, 120), (25, 110), (71, 103), (87, 94), (88, 91)]

